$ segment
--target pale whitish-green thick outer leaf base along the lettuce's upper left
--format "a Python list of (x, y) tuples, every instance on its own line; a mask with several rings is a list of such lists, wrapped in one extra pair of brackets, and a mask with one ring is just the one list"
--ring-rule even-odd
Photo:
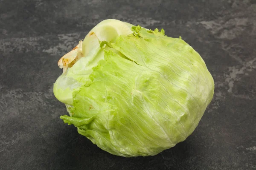
[[(116, 37), (120, 35), (131, 34), (132, 26), (129, 23), (113, 19), (103, 20), (95, 26), (82, 42), (81, 59), (56, 80), (55, 97), (67, 105), (73, 105), (73, 91), (90, 81), (88, 77), (93, 71), (92, 68), (97, 65), (99, 60), (104, 59), (104, 49), (109, 48), (104, 44), (115, 42)], [(115, 51), (113, 48), (110, 50)], [(73, 58), (75, 57), (73, 56)]]

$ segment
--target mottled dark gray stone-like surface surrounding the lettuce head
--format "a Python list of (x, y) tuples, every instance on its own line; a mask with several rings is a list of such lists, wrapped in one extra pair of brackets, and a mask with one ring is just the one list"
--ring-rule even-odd
[[(58, 59), (103, 19), (181, 36), (215, 96), (195, 132), (157, 156), (113, 156), (64, 125)], [(1, 170), (256, 169), (255, 0), (0, 0)]]

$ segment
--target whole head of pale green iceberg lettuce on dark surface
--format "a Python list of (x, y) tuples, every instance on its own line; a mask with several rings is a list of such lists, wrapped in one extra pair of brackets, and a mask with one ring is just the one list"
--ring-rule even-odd
[(184, 141), (212, 100), (214, 82), (181, 38), (119, 20), (95, 26), (58, 65), (61, 119), (111, 154), (153, 156)]

